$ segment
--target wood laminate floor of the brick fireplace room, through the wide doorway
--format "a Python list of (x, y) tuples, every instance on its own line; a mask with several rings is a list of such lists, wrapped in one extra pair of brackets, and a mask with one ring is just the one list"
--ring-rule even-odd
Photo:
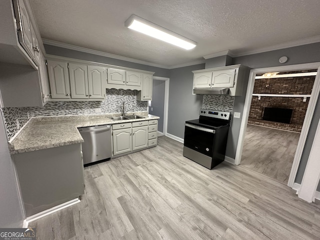
[(240, 164), (287, 183), (300, 133), (248, 124)]

